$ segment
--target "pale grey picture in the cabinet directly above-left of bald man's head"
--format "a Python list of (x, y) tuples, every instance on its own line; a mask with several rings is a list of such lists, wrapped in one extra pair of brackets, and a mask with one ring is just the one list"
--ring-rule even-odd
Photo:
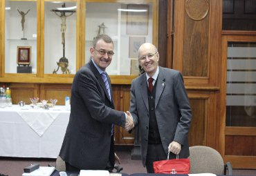
[(145, 43), (145, 37), (129, 37), (129, 58), (138, 57), (138, 48)]

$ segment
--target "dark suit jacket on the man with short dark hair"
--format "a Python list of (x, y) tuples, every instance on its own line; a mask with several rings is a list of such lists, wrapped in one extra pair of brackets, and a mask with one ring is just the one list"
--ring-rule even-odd
[(125, 113), (113, 108), (113, 99), (109, 100), (100, 73), (89, 61), (73, 79), (71, 115), (60, 150), (65, 162), (79, 169), (106, 168), (111, 150), (111, 125), (125, 126)]

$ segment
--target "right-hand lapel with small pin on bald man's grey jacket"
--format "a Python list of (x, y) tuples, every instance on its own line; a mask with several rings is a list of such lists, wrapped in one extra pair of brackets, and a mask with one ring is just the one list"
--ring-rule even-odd
[(163, 69), (161, 67), (159, 67), (158, 80), (157, 80), (157, 84), (156, 84), (155, 108), (158, 104), (158, 101), (159, 101), (164, 89), (165, 89), (165, 75), (164, 75)]

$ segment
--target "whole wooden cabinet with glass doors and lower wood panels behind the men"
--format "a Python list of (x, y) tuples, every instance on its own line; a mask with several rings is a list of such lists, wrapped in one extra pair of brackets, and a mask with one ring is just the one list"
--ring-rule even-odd
[[(140, 43), (158, 42), (158, 0), (0, 0), (0, 7), (0, 85), (10, 87), (13, 104), (39, 97), (63, 105), (64, 97), (71, 96), (75, 72), (90, 59), (93, 38), (104, 32), (114, 41), (107, 72), (116, 109), (129, 110), (129, 87), (138, 76), (136, 50)], [(22, 59), (17, 64), (25, 47), (30, 47), (30, 70)], [(134, 134), (117, 127), (115, 140), (133, 145)]]

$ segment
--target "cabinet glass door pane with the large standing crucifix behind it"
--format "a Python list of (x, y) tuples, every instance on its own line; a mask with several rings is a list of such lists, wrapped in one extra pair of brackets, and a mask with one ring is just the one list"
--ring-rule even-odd
[(44, 3), (44, 73), (76, 71), (76, 2)]

